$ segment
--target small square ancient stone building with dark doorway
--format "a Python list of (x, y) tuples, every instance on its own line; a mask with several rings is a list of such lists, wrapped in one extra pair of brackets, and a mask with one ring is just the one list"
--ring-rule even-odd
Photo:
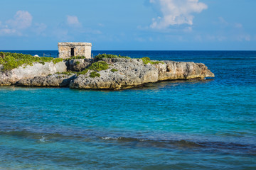
[(88, 42), (58, 42), (58, 52), (59, 57), (64, 59), (78, 55), (91, 58), (92, 44)]

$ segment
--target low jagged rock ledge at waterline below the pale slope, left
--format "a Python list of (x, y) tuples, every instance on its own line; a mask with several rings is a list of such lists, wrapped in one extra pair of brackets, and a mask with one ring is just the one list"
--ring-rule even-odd
[(21, 79), (18, 86), (68, 86), (70, 81), (75, 79), (75, 74), (49, 74), (46, 77), (33, 77), (33, 79)]

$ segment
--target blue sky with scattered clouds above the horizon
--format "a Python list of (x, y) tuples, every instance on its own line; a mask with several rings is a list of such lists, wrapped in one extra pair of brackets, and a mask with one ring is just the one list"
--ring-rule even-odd
[(1, 0), (0, 50), (256, 50), (255, 0)]

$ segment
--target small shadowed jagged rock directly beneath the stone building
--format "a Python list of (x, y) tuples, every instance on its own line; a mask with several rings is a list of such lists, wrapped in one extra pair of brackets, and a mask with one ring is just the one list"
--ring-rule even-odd
[(91, 62), (87, 62), (86, 59), (74, 59), (68, 61), (68, 69), (73, 72), (80, 72), (85, 69)]

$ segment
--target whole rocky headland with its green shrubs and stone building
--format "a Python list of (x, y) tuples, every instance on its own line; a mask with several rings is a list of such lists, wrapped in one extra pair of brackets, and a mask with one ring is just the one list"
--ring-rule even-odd
[(0, 52), (0, 86), (118, 90), (164, 80), (214, 77), (202, 63), (107, 54), (92, 58), (91, 50), (88, 42), (59, 42), (57, 58)]

